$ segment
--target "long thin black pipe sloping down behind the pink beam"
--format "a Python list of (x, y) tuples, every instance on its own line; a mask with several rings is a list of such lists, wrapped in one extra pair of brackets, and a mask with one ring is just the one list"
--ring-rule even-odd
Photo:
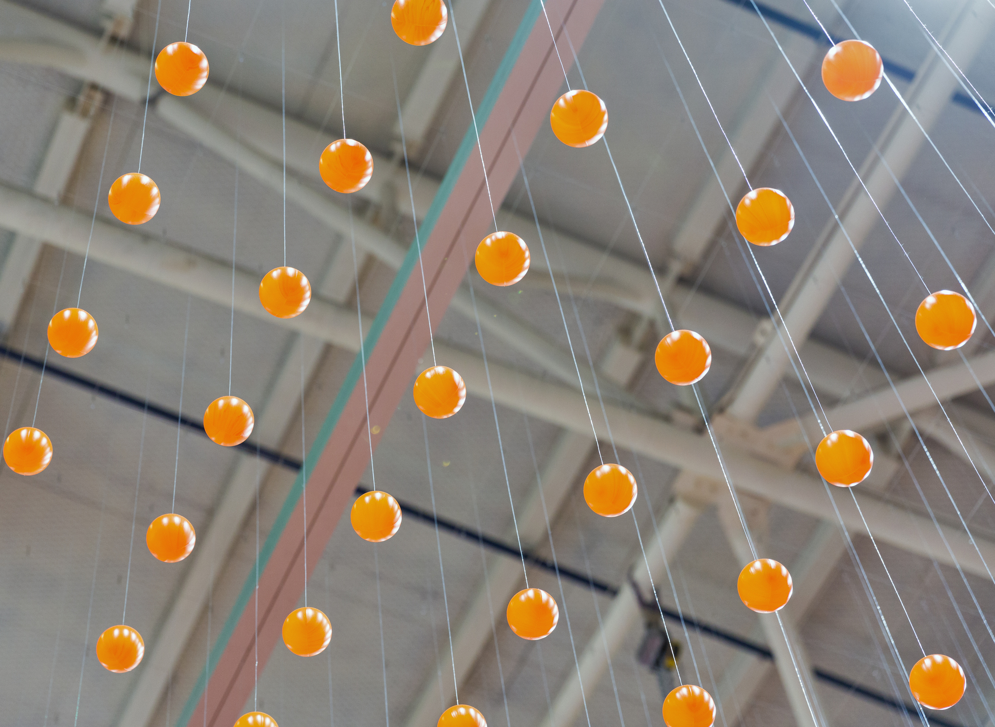
[[(207, 437), (207, 433), (204, 432), (204, 425), (201, 422), (197, 422), (189, 417), (184, 417), (178, 412), (170, 411), (169, 409), (157, 404), (146, 403), (143, 399), (133, 396), (132, 394), (128, 394), (125, 391), (116, 389), (107, 384), (101, 384), (99, 381), (95, 381), (94, 379), (88, 379), (85, 376), (80, 376), (79, 374), (73, 373), (68, 369), (64, 369), (58, 364), (53, 364), (51, 362), (45, 363), (40, 358), (35, 358), (34, 356), (30, 356), (22, 351), (15, 351), (14, 349), (6, 346), (0, 346), (0, 356), (4, 356), (12, 361), (18, 361), (23, 365), (29, 366), (38, 371), (41, 371), (44, 366), (45, 373), (48, 376), (53, 376), (70, 384), (75, 384), (81, 388), (87, 389), (95, 394), (100, 394), (107, 399), (123, 404), (124, 406), (130, 407), (131, 409), (139, 412), (145, 411), (147, 407), (148, 413), (152, 416), (158, 417), (159, 419), (170, 423), (178, 422), (179, 425), (185, 429), (197, 433), (205, 438)], [(270, 450), (259, 445), (251, 445), (248, 442), (242, 443), (237, 449), (242, 450), (246, 454), (259, 454), (260, 457), (267, 459), (274, 464), (279, 464), (280, 466), (287, 467), (288, 469), (294, 471), (298, 471), (301, 466), (299, 459), (281, 454), (277, 450)], [(369, 491), (370, 490), (361, 485), (357, 485), (355, 490), (357, 495), (365, 494)], [(504, 555), (509, 558), (521, 558), (526, 563), (531, 563), (537, 568), (554, 573), (564, 580), (584, 588), (588, 588), (592, 591), (611, 597), (618, 595), (618, 586), (613, 586), (610, 583), (589, 578), (579, 571), (575, 571), (572, 568), (566, 568), (556, 562), (546, 560), (545, 558), (533, 553), (520, 552), (516, 547), (508, 543), (504, 543), (497, 538), (493, 538), (490, 535), (486, 535), (485, 533), (471, 527), (467, 527), (466, 525), (461, 525), (455, 520), (440, 517), (437, 513), (434, 513), (431, 510), (423, 509), (417, 505), (413, 505), (410, 502), (398, 500), (397, 503), (400, 505), (401, 511), (407, 517), (413, 517), (414, 519), (430, 524), (433, 527), (438, 525), (441, 530), (444, 530), (451, 535), (464, 540), (476, 541), (482, 547), (488, 548), (489, 550), (492, 550), (500, 555)], [(650, 602), (648, 600), (644, 602), (643, 595), (639, 593), (638, 587), (636, 588), (636, 594), (643, 608), (657, 612), (657, 602)], [(770, 649), (760, 643), (743, 638), (742, 636), (736, 636), (731, 632), (725, 631), (721, 627), (712, 626), (698, 621), (697, 619), (691, 618), (686, 614), (681, 614), (680, 612), (666, 608), (662, 604), (659, 609), (663, 612), (664, 617), (675, 622), (680, 622), (685, 626), (694, 629), (699, 634), (711, 636), (717, 640), (724, 641), (730, 646), (738, 648), (742, 651), (749, 651), (753, 653), (753, 655), (763, 659), (772, 660), (774, 658), (774, 655), (771, 653)], [(913, 715), (917, 714), (915, 707), (863, 687), (860, 684), (850, 681), (849, 679), (837, 676), (836, 674), (832, 674), (828, 671), (823, 671), (822, 669), (814, 669), (813, 671), (816, 678), (821, 679), (828, 684), (833, 684), (834, 686), (846, 689), (854, 694), (859, 694), (866, 699), (870, 699), (871, 701), (891, 707), (899, 712)], [(938, 725), (938, 727), (961, 727), (959, 724), (947, 722), (936, 717), (930, 717), (929, 719), (933, 724)]]

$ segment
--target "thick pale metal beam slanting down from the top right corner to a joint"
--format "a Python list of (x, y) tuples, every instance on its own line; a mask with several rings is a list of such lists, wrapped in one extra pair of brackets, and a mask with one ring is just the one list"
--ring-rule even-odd
[[(995, 23), (995, 14), (978, 12), (979, 9), (979, 2), (965, 2), (940, 36), (943, 47), (961, 68), (966, 68), (974, 59)], [(930, 52), (905, 93), (906, 102), (915, 110), (924, 129), (928, 131), (933, 127), (956, 87), (957, 80), (936, 54)], [(877, 140), (881, 155), (872, 150), (860, 167), (860, 176), (877, 207), (865, 193), (860, 180), (855, 179), (836, 206), (839, 219), (831, 217), (826, 223), (781, 301), (784, 321), (779, 327), (787, 328), (796, 345), (808, 337), (836, 292), (837, 280), (850, 269), (855, 257), (851, 242), (859, 250), (879, 224), (878, 208), (884, 210), (895, 196), (895, 179), (901, 179), (911, 167), (923, 140), (918, 124), (900, 104), (897, 105)], [(849, 233), (849, 240), (844, 229)], [(735, 401), (726, 410), (729, 415), (750, 422), (766, 404), (788, 365), (782, 337), (786, 339), (783, 331), (774, 331), (755, 352), (737, 384)], [(841, 426), (849, 425), (842, 422)]]

